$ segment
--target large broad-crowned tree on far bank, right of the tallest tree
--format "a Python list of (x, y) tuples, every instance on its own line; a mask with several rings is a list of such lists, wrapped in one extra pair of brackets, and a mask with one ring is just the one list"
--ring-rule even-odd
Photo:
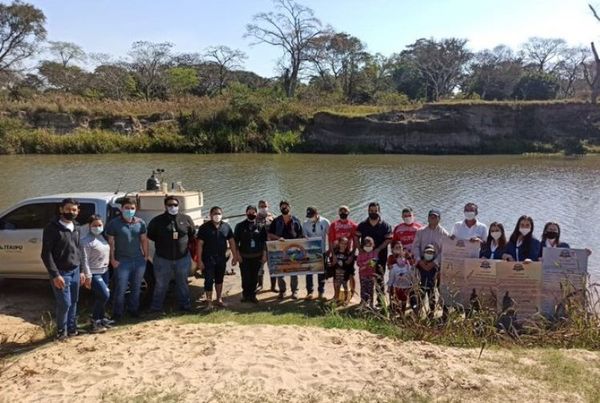
[(472, 57), (466, 44), (466, 39), (436, 41), (422, 38), (401, 53), (418, 68), (427, 82), (428, 101), (450, 96), (459, 85), (465, 66)]

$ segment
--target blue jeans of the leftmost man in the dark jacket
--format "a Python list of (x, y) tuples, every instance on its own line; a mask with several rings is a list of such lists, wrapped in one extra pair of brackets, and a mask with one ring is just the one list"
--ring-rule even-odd
[(60, 271), (65, 280), (65, 287), (61, 290), (54, 286), (52, 279), (50, 285), (56, 298), (56, 328), (58, 334), (73, 333), (77, 330), (77, 301), (79, 299), (79, 267), (71, 271)]

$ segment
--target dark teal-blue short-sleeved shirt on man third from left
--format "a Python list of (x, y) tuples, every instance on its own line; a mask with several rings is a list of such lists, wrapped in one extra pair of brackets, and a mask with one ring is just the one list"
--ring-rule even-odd
[(115, 238), (115, 259), (136, 259), (144, 257), (140, 237), (146, 233), (146, 223), (138, 217), (132, 222), (122, 217), (113, 218), (106, 226), (105, 233)]

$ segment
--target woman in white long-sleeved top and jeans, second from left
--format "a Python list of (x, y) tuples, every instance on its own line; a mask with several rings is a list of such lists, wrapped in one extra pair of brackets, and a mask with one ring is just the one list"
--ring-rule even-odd
[(111, 322), (104, 318), (106, 303), (110, 297), (108, 289), (109, 245), (104, 236), (102, 217), (92, 215), (89, 219), (90, 232), (81, 241), (82, 265), (87, 278), (92, 279), (94, 309), (92, 312), (92, 332), (105, 332)]

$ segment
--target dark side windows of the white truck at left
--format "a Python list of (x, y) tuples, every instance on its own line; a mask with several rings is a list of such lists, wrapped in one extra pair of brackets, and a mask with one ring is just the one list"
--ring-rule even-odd
[[(0, 230), (42, 229), (58, 215), (59, 203), (32, 203), (21, 206), (0, 218)], [(77, 222), (87, 224), (94, 214), (93, 203), (81, 203)]]

